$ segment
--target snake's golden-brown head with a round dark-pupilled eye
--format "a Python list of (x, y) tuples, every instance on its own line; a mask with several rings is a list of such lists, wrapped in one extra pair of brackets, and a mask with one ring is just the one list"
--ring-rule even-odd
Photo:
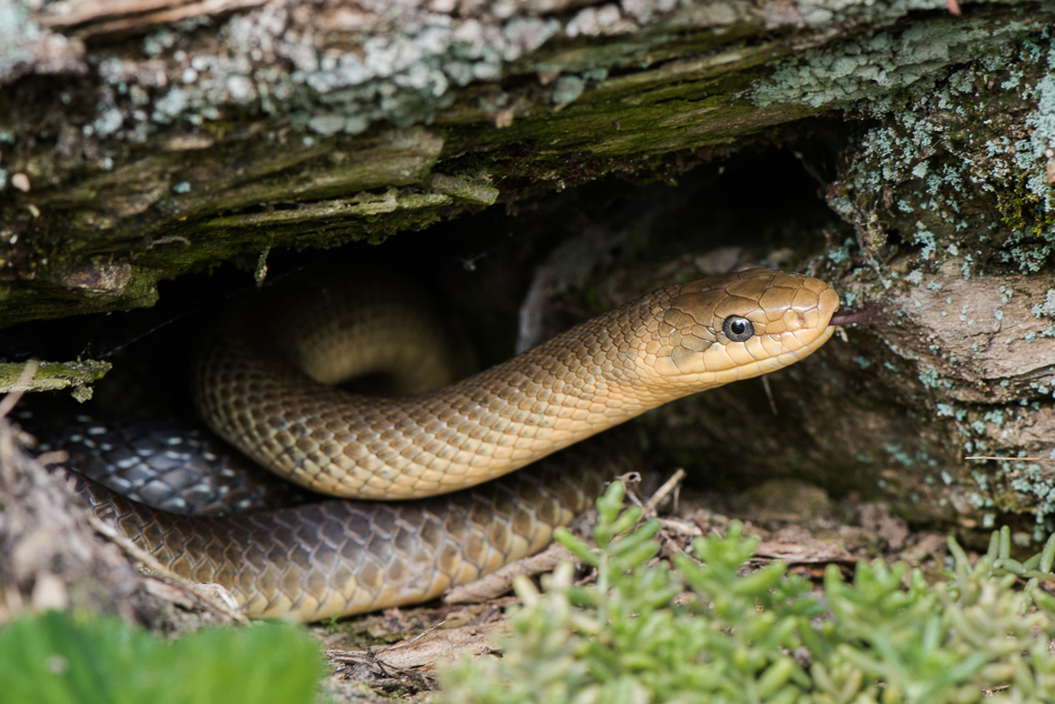
[(707, 389), (796, 362), (834, 332), (835, 290), (820, 279), (751, 269), (685, 283), (656, 311), (653, 369)]

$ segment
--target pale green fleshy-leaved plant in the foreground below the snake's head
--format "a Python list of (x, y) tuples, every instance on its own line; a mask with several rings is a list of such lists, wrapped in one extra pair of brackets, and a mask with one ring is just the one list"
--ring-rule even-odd
[(695, 559), (655, 562), (659, 523), (634, 527), (641, 510), (622, 499), (613, 484), (597, 502), (599, 550), (557, 536), (596, 583), (575, 586), (570, 564), (545, 593), (519, 580), (502, 657), (459, 662), (440, 702), (930, 704), (1055, 692), (1055, 599), (1038, 587), (1055, 577), (1055, 540), (1017, 563), (1004, 531), (974, 565), (949, 540), (954, 570), (933, 584), (903, 563), (858, 563), (852, 584), (830, 566), (816, 595), (780, 562), (740, 576), (757, 541), (737, 522), (697, 539)]

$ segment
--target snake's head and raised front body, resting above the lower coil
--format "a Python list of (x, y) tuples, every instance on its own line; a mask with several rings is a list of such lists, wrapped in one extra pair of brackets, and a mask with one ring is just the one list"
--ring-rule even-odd
[[(523, 467), (667, 401), (786, 366), (831, 336), (837, 304), (827, 284), (803, 276), (714, 276), (655, 291), (438, 391), (393, 399), (304, 375), (268, 340), (281, 321), (262, 313), (234, 321), (209, 346), (198, 408), (221, 436), (313, 491), (431, 496)], [(744, 315), (754, 332), (746, 343), (730, 340), (723, 321)]]

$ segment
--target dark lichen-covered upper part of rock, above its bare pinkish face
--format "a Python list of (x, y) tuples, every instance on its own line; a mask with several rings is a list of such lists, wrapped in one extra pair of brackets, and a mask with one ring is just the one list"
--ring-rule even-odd
[(1038, 28), (944, 78), (862, 103), (883, 125), (863, 133), (830, 203), (861, 228), (897, 231), (921, 263), (959, 257), (965, 279), (994, 259), (1039, 271), (1055, 251), (1053, 72)]

